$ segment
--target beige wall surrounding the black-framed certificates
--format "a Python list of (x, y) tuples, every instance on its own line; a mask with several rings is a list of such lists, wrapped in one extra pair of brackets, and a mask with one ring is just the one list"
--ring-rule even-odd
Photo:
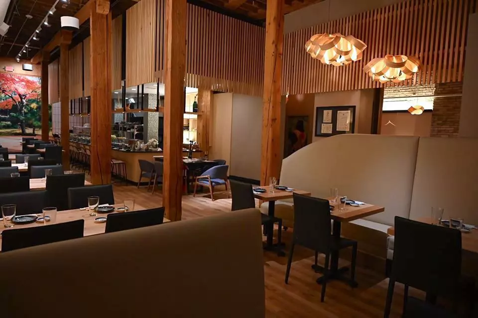
[(315, 137), (316, 109), (319, 107), (355, 105), (355, 133), (370, 134), (371, 132), (373, 89), (358, 89), (315, 94), (314, 105), (314, 133), (312, 135), (312, 142), (319, 141), (322, 138), (327, 138)]

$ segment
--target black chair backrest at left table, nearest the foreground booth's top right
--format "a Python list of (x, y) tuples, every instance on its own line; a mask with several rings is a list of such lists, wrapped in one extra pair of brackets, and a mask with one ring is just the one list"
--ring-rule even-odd
[(108, 214), (105, 233), (144, 228), (162, 224), (164, 207), (143, 211)]

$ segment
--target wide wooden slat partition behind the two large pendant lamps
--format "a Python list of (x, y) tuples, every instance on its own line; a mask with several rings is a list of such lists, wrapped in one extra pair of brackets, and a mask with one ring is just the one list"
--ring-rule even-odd
[[(422, 85), (463, 80), (468, 15), (477, 0), (407, 0), (284, 36), (282, 94), (303, 94), (380, 85), (363, 72), (377, 57), (412, 55), (422, 70), (399, 84)], [(367, 44), (362, 60), (344, 67), (324, 65), (305, 51), (317, 33), (352, 34)]]

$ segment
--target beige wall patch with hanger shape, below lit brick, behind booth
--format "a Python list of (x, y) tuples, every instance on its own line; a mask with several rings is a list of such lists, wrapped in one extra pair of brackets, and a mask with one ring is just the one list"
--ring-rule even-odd
[(384, 112), (380, 135), (430, 137), (431, 125), (431, 111), (421, 115), (412, 115), (409, 112)]

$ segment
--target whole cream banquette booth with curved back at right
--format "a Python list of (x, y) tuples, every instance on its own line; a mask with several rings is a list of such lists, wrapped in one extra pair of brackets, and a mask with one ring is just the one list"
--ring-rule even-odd
[[(446, 218), (478, 225), (477, 163), (478, 139), (350, 134), (323, 138), (284, 159), (279, 181), (322, 198), (337, 187), (339, 195), (385, 207), (342, 227), (360, 250), (385, 259), (395, 216), (429, 217), (440, 206)], [(277, 202), (275, 211), (293, 226), (291, 200)]]

